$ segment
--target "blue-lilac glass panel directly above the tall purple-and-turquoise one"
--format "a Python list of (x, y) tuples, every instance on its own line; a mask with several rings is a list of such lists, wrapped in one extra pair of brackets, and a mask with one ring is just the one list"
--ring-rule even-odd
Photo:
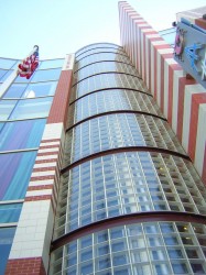
[(45, 123), (45, 119), (4, 123), (0, 130), (0, 151), (37, 147)]

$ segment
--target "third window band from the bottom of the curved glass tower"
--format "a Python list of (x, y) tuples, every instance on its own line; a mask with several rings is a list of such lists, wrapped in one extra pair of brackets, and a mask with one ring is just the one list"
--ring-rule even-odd
[(184, 154), (164, 120), (143, 114), (116, 113), (85, 121), (68, 131), (65, 162), (69, 164), (94, 153), (127, 146), (152, 146)]

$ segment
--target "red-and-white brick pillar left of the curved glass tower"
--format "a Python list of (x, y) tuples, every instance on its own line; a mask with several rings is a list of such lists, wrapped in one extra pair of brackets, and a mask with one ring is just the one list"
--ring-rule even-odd
[(67, 55), (37, 151), (6, 274), (47, 274), (74, 55)]

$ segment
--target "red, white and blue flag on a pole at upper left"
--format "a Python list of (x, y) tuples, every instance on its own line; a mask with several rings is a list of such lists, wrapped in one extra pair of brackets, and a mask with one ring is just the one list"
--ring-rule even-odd
[(34, 70), (39, 66), (39, 46), (35, 45), (34, 50), (30, 53), (30, 55), (19, 64), (18, 75), (20, 77), (25, 77), (30, 79), (33, 75)]

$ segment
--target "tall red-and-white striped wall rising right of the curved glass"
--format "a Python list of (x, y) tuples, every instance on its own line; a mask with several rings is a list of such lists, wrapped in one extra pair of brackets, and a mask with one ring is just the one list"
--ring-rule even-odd
[(173, 48), (127, 2), (119, 14), (121, 45), (206, 184), (206, 90), (186, 78)]

